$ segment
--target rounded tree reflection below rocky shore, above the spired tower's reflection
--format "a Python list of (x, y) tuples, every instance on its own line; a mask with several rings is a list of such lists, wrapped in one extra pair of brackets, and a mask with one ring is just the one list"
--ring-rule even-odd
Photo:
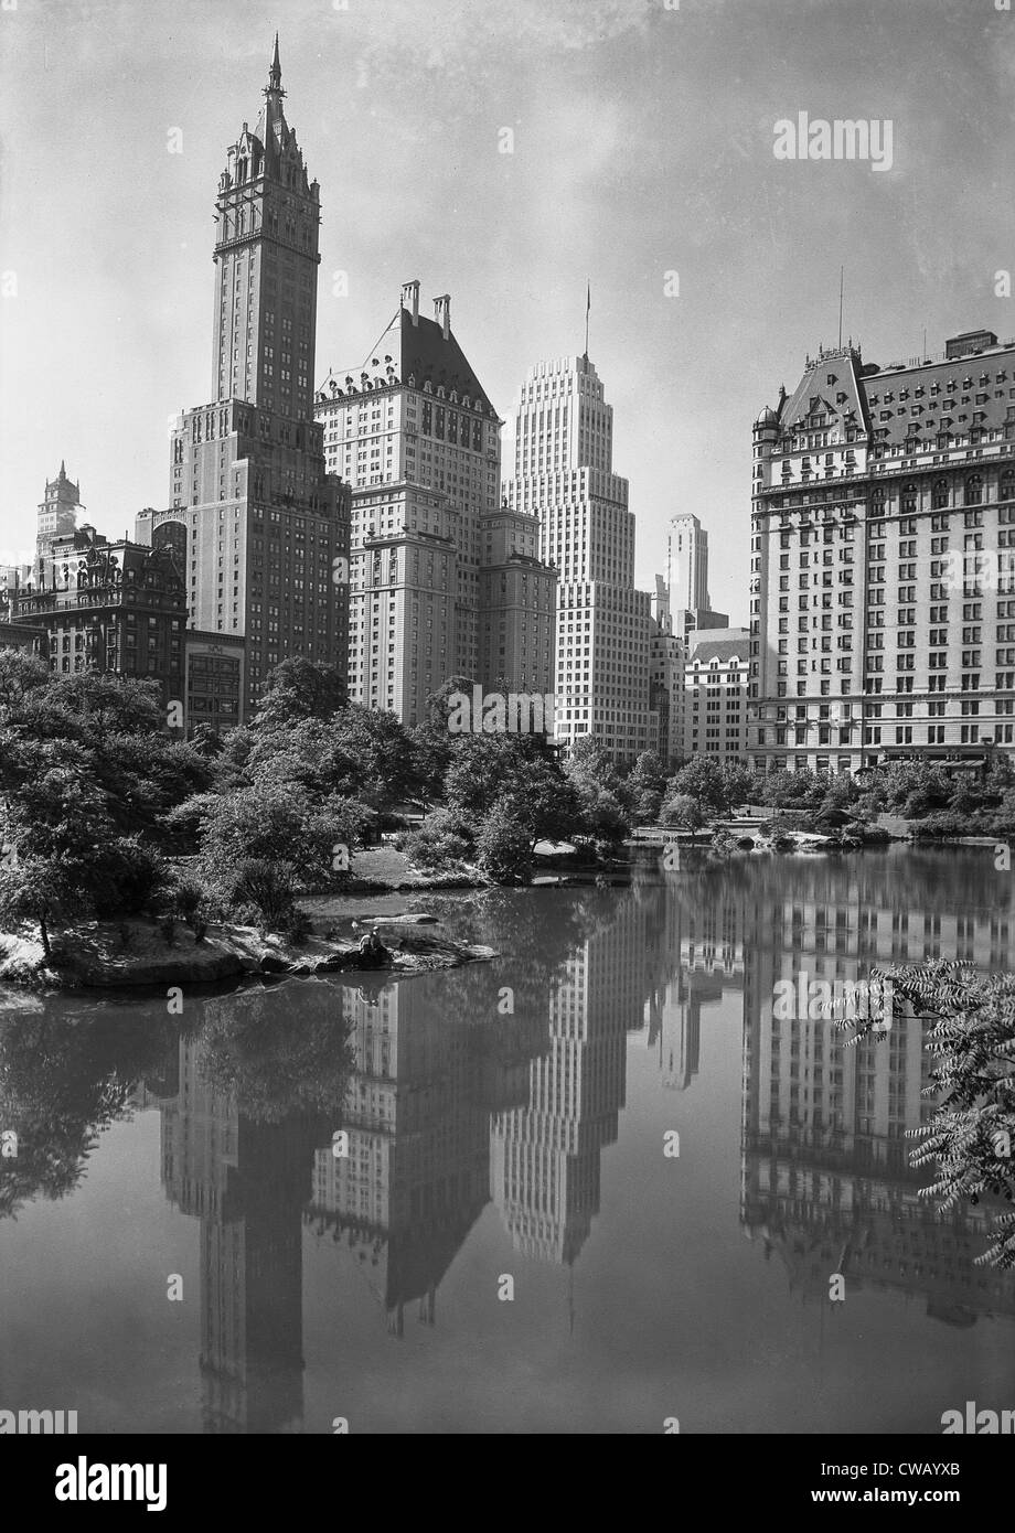
[(334, 1113), (345, 1096), (353, 1053), (334, 983), (288, 980), (285, 992), (242, 990), (210, 1001), (198, 1036), (202, 1078), (253, 1122)]

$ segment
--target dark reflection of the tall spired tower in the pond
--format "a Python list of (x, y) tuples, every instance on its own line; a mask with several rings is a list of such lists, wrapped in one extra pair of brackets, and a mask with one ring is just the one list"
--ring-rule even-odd
[[(181, 1039), (163, 1113), (166, 1196), (201, 1220), (201, 1380), (205, 1432), (291, 1432), (304, 1415), (301, 1208), (316, 1122), (253, 1122), (202, 1078)], [(170, 1095), (169, 1087), (176, 1090)]]

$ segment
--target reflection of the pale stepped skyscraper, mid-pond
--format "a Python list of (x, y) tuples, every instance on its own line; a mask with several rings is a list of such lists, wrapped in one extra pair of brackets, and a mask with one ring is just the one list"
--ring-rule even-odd
[(491, 1124), (491, 1187), (524, 1256), (573, 1265), (599, 1210), (599, 1162), (624, 1105), (627, 1032), (641, 1026), (645, 917), (626, 892), (616, 918), (567, 958), (549, 1001), (549, 1049), (527, 1102)]

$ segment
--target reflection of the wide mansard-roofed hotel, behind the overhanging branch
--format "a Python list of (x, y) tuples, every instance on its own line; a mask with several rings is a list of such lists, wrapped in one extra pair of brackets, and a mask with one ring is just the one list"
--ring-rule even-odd
[[(912, 857), (909, 858), (912, 868)], [(934, 866), (932, 863), (929, 865)], [(845, 881), (843, 881), (845, 880)], [(906, 1131), (932, 1111), (921, 1095), (932, 1058), (923, 1026), (895, 1016), (880, 1039), (854, 1047), (831, 1019), (773, 1015), (777, 980), (856, 980), (874, 964), (963, 958), (1010, 967), (1006, 911), (984, 892), (892, 877), (891, 858), (759, 869), (745, 891), (753, 940), (744, 995), (741, 1219), (765, 1254), (777, 1251), (791, 1288), (828, 1298), (833, 1272), (856, 1289), (918, 1292), (928, 1314), (974, 1325), (1015, 1314), (1015, 1279), (977, 1266), (989, 1211), (937, 1216), (918, 1196)], [(957, 898), (958, 894), (958, 898)]]

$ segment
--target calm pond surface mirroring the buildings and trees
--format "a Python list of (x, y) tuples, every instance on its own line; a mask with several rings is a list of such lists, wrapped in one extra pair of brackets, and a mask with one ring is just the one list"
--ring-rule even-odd
[(892, 1433), (1013, 1407), (989, 1211), (935, 1219), (908, 1167), (918, 1026), (846, 1049), (773, 1023), (799, 972), (1015, 969), (1009, 889), (978, 851), (645, 868), (428, 900), (501, 957), (399, 984), (182, 1018), (2, 996), (0, 1407), (101, 1433)]

